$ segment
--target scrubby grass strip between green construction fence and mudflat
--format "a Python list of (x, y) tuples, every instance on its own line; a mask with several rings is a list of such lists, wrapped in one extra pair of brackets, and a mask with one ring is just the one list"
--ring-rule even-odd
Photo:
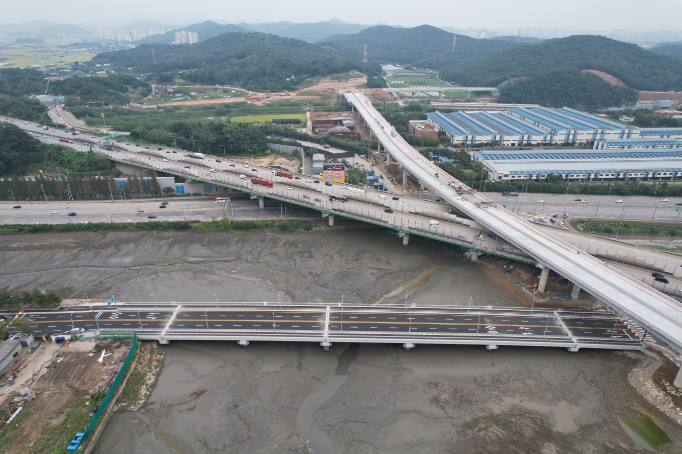
[(130, 373), (125, 388), (116, 402), (118, 411), (136, 410), (142, 406), (153, 391), (166, 352), (153, 341), (140, 341), (138, 359)]

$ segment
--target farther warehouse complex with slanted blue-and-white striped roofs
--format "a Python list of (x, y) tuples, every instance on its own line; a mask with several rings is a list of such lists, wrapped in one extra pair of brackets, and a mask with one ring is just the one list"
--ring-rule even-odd
[(682, 139), (682, 128), (636, 128), (571, 108), (516, 107), (497, 112), (432, 112), (428, 119), (452, 143), (503, 146), (611, 139)]

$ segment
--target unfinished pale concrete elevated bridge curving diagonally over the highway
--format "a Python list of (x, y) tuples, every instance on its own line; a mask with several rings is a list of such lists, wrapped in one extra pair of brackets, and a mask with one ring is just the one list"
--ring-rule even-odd
[[(497, 236), (533, 257), (542, 267), (539, 288), (544, 290), (549, 270), (574, 282), (627, 317), (665, 340), (678, 355), (682, 352), (682, 306), (675, 299), (633, 280), (580, 249), (567, 244), (519, 218), (462, 182), (443, 174), (399, 134), (391, 135), (389, 123), (364, 93), (344, 93), (387, 152), (413, 176), (460, 212), (486, 226)], [(389, 128), (386, 129), (385, 125)]]

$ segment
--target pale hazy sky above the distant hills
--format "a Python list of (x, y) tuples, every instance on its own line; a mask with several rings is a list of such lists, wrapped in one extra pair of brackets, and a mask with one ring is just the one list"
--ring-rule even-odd
[(469, 27), (553, 29), (682, 30), (682, 0), (1, 0), (0, 23), (27, 20), (120, 27), (156, 19), (188, 25), (202, 20), (318, 22), (336, 17), (361, 24), (430, 24)]

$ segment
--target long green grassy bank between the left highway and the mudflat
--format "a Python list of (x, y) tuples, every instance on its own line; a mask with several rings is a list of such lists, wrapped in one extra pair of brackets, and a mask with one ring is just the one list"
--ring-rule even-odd
[(85, 223), (85, 224), (5, 224), (0, 225), (0, 235), (19, 233), (70, 232), (70, 231), (310, 231), (313, 223), (288, 219), (286, 221), (149, 221), (147, 223)]

